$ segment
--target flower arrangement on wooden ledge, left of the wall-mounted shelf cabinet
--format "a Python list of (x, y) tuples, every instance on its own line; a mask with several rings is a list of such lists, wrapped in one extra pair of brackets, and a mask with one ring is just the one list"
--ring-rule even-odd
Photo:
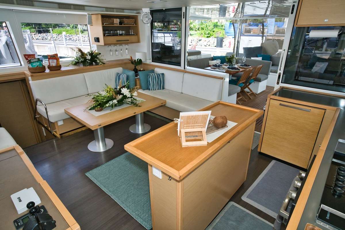
[(72, 49), (76, 52), (76, 56), (73, 57), (74, 60), (71, 62), (72, 65), (92, 66), (93, 64), (102, 65), (105, 64), (104, 60), (100, 57), (101, 53), (96, 50), (90, 50), (84, 52), (79, 47)]

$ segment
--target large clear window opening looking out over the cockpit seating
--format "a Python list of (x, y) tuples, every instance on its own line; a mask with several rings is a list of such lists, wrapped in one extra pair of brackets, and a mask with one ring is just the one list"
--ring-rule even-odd
[(244, 47), (270, 40), (274, 41), (265, 43), (270, 52), (264, 45), (262, 53), (280, 58), (291, 4), (253, 1), (190, 7), (187, 65), (205, 68), (213, 56), (243, 57)]

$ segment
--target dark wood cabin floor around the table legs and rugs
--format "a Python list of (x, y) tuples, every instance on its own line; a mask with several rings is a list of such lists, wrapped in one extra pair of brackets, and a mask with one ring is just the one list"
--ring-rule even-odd
[[(167, 123), (157, 117), (144, 115), (151, 131)], [(103, 153), (91, 152), (87, 145), (93, 140), (91, 130), (85, 130), (61, 139), (55, 138), (24, 149), (35, 168), (48, 182), (65, 204), (82, 230), (144, 230), (134, 218), (122, 209), (85, 173), (125, 153), (124, 145), (141, 134), (131, 133), (128, 128), (135, 118), (127, 118), (106, 126), (105, 136), (114, 141), (114, 146)], [(269, 222), (274, 219), (241, 200), (241, 196), (267, 167), (272, 159), (252, 150), (248, 177), (230, 201), (254, 212)]]

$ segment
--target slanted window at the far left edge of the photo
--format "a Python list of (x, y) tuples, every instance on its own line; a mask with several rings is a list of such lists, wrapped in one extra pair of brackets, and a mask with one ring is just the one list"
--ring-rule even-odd
[(20, 65), (7, 24), (0, 21), (0, 68)]

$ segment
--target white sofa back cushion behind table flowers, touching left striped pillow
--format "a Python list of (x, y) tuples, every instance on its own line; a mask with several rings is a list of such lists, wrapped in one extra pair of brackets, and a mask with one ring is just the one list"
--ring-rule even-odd
[(122, 73), (122, 67), (84, 73), (88, 93), (103, 90), (105, 84), (115, 87), (116, 73)]

